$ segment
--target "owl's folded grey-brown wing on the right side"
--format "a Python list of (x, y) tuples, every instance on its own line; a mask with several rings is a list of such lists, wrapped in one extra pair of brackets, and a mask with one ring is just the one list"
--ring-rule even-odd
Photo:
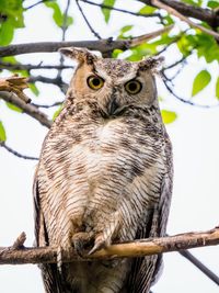
[[(136, 239), (163, 236), (168, 222), (172, 190), (172, 178), (169, 173), (162, 179), (161, 195), (158, 205), (148, 210), (141, 225), (136, 234)], [(130, 293), (148, 293), (155, 282), (162, 264), (162, 256), (149, 256), (136, 258), (132, 261), (127, 283)]]

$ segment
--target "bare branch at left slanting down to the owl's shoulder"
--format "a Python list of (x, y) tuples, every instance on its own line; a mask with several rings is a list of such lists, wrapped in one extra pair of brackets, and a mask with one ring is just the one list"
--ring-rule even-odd
[(0, 91), (0, 99), (16, 105), (18, 108), (23, 110), (24, 113), (37, 120), (42, 125), (48, 128), (51, 126), (53, 122), (47, 119), (45, 113), (41, 112), (36, 106), (32, 104), (26, 104), (13, 92)]

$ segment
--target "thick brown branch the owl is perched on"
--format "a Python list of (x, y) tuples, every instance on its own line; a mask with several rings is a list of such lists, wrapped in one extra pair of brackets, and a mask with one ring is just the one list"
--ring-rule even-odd
[[(132, 258), (189, 248), (219, 245), (219, 228), (201, 233), (185, 233), (175, 236), (140, 239), (132, 243), (114, 244), (91, 256), (79, 257), (73, 249), (62, 251), (62, 262), (88, 261), (114, 258)], [(0, 264), (53, 263), (57, 262), (58, 247), (0, 248)], [(59, 250), (60, 251), (60, 250)]]

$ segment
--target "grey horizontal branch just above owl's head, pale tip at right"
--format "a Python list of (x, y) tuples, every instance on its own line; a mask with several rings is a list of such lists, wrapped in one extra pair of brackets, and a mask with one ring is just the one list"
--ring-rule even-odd
[[(172, 26), (165, 26), (162, 30), (145, 34), (140, 36), (140, 42), (147, 42), (162, 33), (166, 33)], [(112, 52), (114, 49), (127, 49), (136, 46), (139, 43), (139, 37), (131, 40), (99, 40), (99, 41), (77, 41), (77, 42), (42, 42), (42, 43), (27, 43), (16, 44), (0, 47), (0, 57), (14, 56), (26, 53), (37, 52), (57, 52), (60, 47), (87, 47), (88, 49), (100, 50), (102, 53)]]

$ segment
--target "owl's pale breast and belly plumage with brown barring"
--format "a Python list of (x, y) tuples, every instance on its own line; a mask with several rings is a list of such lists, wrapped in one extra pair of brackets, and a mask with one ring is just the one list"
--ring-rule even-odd
[[(81, 232), (94, 235), (94, 246), (152, 235), (149, 230), (155, 224), (149, 215), (159, 204), (169, 172), (169, 148), (163, 126), (147, 117), (60, 115), (44, 143), (37, 170), (49, 244), (69, 247)], [(110, 273), (115, 288), (122, 288), (130, 270), (123, 263)], [(97, 278), (100, 268), (95, 273)], [(69, 280), (80, 282), (78, 270)]]

